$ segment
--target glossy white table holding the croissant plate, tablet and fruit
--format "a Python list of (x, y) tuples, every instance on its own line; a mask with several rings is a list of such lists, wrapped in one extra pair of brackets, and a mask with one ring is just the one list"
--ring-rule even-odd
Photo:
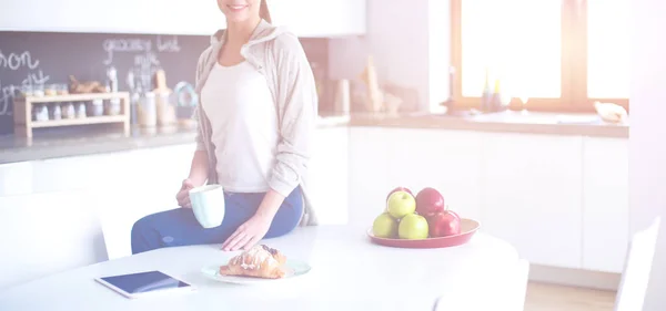
[[(443, 293), (471, 297), (501, 310), (492, 293), (502, 272), (518, 261), (508, 243), (477, 232), (467, 245), (401, 249), (373, 245), (362, 228), (297, 228), (264, 241), (287, 257), (307, 261), (300, 278), (268, 286), (238, 286), (200, 273), (221, 265), (219, 246), (167, 248), (50, 276), (0, 292), (0, 310), (431, 310)], [(195, 292), (129, 300), (93, 278), (162, 270), (198, 287)], [(488, 296), (486, 296), (488, 293)], [(474, 299), (476, 298), (476, 299)]]

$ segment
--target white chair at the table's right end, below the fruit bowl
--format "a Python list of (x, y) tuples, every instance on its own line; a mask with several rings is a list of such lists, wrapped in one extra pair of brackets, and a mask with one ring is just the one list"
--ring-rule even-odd
[[(486, 284), (488, 287), (480, 288), (480, 293), (452, 293), (438, 297), (433, 305), (433, 311), (522, 311), (525, 308), (529, 262), (521, 259), (515, 269), (505, 272), (508, 273), (506, 277), (498, 276), (495, 282)], [(490, 293), (492, 297), (485, 296), (488, 292), (492, 292)]]

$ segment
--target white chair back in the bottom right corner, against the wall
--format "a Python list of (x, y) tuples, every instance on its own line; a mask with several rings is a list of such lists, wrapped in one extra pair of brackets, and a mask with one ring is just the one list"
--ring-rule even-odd
[(660, 221), (660, 217), (657, 217), (647, 229), (636, 232), (632, 238), (615, 298), (615, 311), (643, 310)]

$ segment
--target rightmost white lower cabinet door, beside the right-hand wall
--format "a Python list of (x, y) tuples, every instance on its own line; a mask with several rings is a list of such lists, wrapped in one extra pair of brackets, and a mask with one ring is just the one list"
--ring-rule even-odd
[(628, 139), (584, 138), (584, 269), (623, 271), (629, 242), (628, 170)]

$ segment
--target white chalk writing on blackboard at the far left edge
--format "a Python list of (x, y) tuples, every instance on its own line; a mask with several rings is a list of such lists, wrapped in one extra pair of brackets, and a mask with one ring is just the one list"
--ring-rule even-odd
[(50, 79), (39, 69), (39, 60), (33, 59), (30, 55), (30, 51), (4, 54), (0, 50), (0, 72), (4, 70), (27, 70), (27, 75), (21, 81), (21, 84), (18, 85), (4, 85), (2, 84), (2, 80), (0, 80), (0, 115), (11, 115), (10, 107), (13, 104), (17, 91), (20, 91), (22, 87), (43, 87)]

